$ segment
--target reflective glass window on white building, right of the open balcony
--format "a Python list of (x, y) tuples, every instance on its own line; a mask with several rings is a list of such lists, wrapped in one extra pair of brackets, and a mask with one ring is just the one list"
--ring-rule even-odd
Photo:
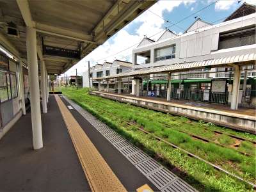
[(175, 58), (176, 47), (172, 45), (170, 47), (164, 47), (156, 49), (156, 61), (170, 60)]

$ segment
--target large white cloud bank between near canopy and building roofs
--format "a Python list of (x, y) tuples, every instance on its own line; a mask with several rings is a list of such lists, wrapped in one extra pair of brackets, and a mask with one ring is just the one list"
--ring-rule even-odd
[[(186, 6), (189, 6), (192, 3), (195, 3), (194, 0), (188, 1), (188, 0), (180, 0), (180, 1), (158, 1), (156, 4), (154, 4), (152, 7), (149, 8), (151, 12), (145, 11), (142, 13), (138, 18), (133, 20), (128, 26), (126, 26), (124, 29), (121, 29), (116, 33), (113, 38), (111, 38), (111, 41), (105, 42), (103, 45), (100, 45), (97, 49), (95, 49), (93, 52), (88, 54), (83, 60), (79, 61), (77, 65), (70, 68), (68, 70), (67, 75), (74, 75), (77, 68), (77, 73), (81, 75), (82, 72), (84, 72), (88, 67), (87, 61), (90, 60), (91, 63), (95, 63), (95, 61), (98, 61), (99, 63), (103, 63), (104, 60), (112, 62), (117, 59), (122, 60), (128, 60), (131, 61), (131, 54), (132, 49), (134, 49), (132, 45), (137, 44), (143, 39), (144, 35), (147, 35), (148, 37), (153, 36), (152, 38), (154, 40), (157, 40), (161, 33), (159, 31), (163, 31), (163, 28), (161, 26), (164, 24), (164, 19), (161, 19), (163, 17), (164, 12), (172, 12), (173, 8), (179, 6), (180, 4), (184, 3)], [(154, 15), (154, 13), (156, 15)], [(157, 17), (159, 15), (160, 17)], [(131, 35), (127, 29), (132, 24), (139, 24), (141, 25), (136, 29), (136, 34)], [(124, 52), (120, 52), (127, 47), (131, 47)], [(119, 54), (115, 54), (116, 52), (120, 52)], [(115, 55), (113, 55), (115, 54)], [(100, 60), (102, 59), (102, 60)], [(92, 66), (92, 64), (91, 64)]]

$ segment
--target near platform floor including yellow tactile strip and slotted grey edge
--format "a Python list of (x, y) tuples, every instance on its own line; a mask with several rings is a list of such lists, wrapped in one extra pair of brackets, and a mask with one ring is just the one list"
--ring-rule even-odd
[[(48, 113), (42, 114), (43, 148), (31, 147), (30, 113), (0, 140), (1, 190), (195, 191), (92, 115), (84, 116), (86, 111), (64, 97), (50, 95), (47, 107)], [(127, 148), (120, 147), (123, 144)], [(124, 154), (129, 150), (131, 154)], [(149, 170), (147, 174), (138, 168), (141, 165)]]

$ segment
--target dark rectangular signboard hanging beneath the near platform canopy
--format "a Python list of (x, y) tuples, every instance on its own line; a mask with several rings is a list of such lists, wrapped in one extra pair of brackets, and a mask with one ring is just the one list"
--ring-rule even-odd
[(63, 58), (74, 58), (80, 59), (80, 51), (65, 49), (60, 47), (52, 47), (49, 45), (43, 45), (43, 54), (51, 55), (51, 56), (59, 56)]

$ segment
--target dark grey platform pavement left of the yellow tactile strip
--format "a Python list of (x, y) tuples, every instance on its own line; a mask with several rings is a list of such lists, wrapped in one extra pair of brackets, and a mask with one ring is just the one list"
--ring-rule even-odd
[(30, 113), (0, 140), (0, 191), (90, 191), (54, 97), (42, 127), (40, 150), (32, 149)]

